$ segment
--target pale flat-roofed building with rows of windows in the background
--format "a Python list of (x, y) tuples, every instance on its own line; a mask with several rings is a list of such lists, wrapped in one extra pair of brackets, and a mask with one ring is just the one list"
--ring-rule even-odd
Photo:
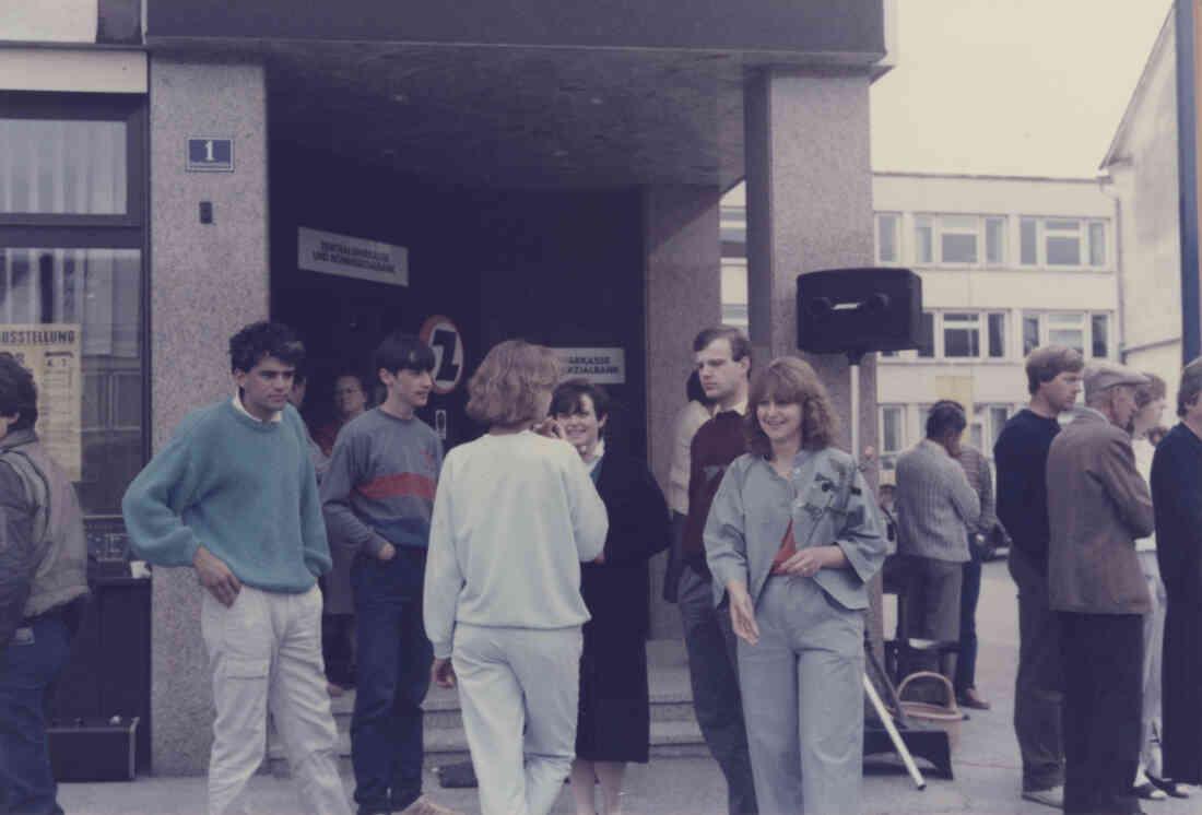
[[(744, 202), (722, 202), (722, 313), (746, 325)], [(1115, 358), (1118, 206), (1095, 179), (874, 173), (876, 263), (917, 272), (923, 344), (882, 353), (882, 462), (924, 435), (939, 399), (972, 405), (969, 440), (992, 457), (1028, 400), (1024, 359), (1039, 345)]]

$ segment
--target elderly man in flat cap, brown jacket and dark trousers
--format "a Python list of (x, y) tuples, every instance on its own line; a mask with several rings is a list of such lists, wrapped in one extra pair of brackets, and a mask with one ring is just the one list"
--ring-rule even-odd
[(1147, 379), (1101, 362), (1085, 369), (1085, 406), (1048, 452), (1048, 600), (1064, 654), (1065, 813), (1139, 813), (1143, 614), (1135, 540), (1152, 534), (1152, 495), (1127, 422)]

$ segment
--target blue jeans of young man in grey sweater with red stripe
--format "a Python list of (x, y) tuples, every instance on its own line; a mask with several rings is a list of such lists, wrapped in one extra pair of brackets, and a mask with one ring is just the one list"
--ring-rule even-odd
[(426, 551), (397, 547), (383, 563), (351, 566), (358, 618), (358, 685), (351, 716), (355, 801), (404, 809), (422, 793), (422, 700), (434, 649), (422, 625)]

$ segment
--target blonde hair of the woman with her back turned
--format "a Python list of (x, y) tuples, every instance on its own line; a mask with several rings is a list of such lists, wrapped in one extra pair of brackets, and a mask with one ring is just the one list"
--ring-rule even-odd
[(494, 345), (468, 381), (468, 415), (481, 424), (512, 427), (542, 418), (559, 381), (559, 359), (542, 345)]

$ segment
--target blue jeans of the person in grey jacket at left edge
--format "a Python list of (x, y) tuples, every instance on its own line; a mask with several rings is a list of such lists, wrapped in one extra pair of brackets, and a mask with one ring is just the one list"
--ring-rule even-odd
[(0, 813), (61, 815), (46, 738), (48, 689), (71, 655), (58, 617), (36, 618), (0, 649)]

